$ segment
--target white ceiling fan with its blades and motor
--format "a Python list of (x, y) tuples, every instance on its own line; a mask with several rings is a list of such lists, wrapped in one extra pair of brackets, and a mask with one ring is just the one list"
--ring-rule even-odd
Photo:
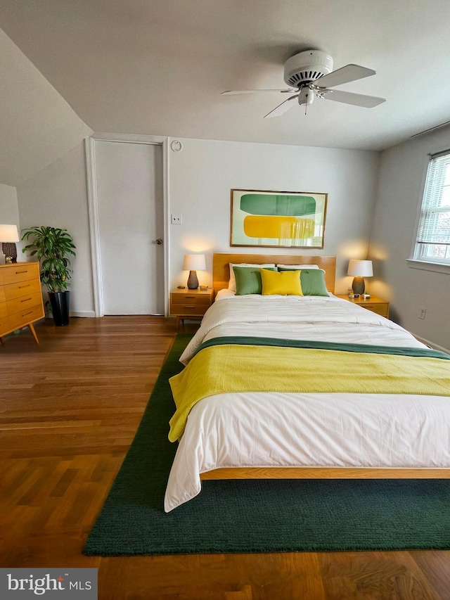
[(256, 92), (278, 91), (281, 94), (294, 94), (278, 104), (266, 117), (278, 117), (289, 110), (295, 98), (300, 105), (307, 107), (314, 102), (314, 98), (324, 98), (335, 102), (353, 104), (364, 108), (374, 108), (385, 102), (385, 98), (353, 94), (350, 91), (340, 91), (334, 88), (356, 79), (364, 79), (376, 75), (375, 71), (360, 65), (345, 65), (333, 71), (333, 58), (320, 50), (305, 50), (288, 58), (284, 64), (284, 80), (290, 87), (288, 89), (236, 89), (222, 91), (226, 94), (254, 94)]

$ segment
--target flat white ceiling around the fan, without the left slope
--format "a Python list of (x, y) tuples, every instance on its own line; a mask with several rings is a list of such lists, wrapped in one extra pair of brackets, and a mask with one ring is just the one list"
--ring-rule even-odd
[[(450, 120), (448, 0), (0, 0), (0, 25), (96, 132), (383, 150)], [(376, 108), (316, 101), (262, 117), (298, 51), (377, 72), (340, 87)], [(3, 117), (4, 118), (4, 117)]]

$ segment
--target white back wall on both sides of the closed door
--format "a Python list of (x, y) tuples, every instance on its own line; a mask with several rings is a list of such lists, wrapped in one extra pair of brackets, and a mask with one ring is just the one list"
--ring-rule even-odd
[[(271, 248), (274, 254), (337, 255), (336, 293), (351, 283), (349, 258), (366, 258), (378, 181), (379, 153), (182, 139), (183, 150), (169, 150), (169, 214), (182, 215), (169, 225), (169, 283), (186, 284), (181, 270), (189, 252), (205, 252), (212, 282), (212, 252), (257, 253), (256, 248), (230, 248), (232, 188), (328, 193), (323, 250)], [(77, 245), (71, 308), (94, 314), (84, 147), (76, 146), (18, 187), (20, 225), (52, 225), (68, 229)], [(264, 252), (264, 249), (261, 249)]]

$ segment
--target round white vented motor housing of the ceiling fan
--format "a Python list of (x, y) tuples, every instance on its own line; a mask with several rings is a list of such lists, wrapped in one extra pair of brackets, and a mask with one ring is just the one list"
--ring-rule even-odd
[(284, 80), (291, 87), (314, 82), (333, 70), (333, 58), (321, 50), (306, 50), (291, 56), (284, 64)]

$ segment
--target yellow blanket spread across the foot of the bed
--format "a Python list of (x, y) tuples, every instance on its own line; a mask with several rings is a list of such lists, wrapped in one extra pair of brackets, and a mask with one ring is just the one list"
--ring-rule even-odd
[(259, 345), (219, 345), (198, 352), (169, 379), (176, 404), (169, 440), (184, 432), (192, 407), (224, 392), (349, 392), (450, 395), (450, 362)]

